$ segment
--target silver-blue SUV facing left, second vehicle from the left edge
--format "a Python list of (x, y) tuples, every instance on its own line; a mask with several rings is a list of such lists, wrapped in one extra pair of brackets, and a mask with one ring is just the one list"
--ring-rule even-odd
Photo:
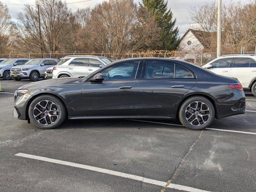
[(55, 66), (58, 59), (52, 58), (37, 58), (32, 59), (25, 65), (12, 67), (11, 76), (14, 80), (30, 79), (30, 81), (37, 81), (40, 77), (44, 77), (44, 72), (49, 66)]

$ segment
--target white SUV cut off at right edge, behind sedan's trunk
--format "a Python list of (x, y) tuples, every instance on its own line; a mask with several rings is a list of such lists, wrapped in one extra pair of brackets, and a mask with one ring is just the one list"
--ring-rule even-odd
[(235, 77), (256, 96), (256, 55), (225, 55), (202, 66), (216, 74)]

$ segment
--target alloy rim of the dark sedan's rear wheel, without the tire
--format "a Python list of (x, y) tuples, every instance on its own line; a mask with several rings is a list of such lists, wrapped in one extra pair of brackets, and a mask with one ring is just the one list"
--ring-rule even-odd
[(190, 103), (185, 110), (185, 117), (189, 124), (193, 126), (202, 126), (210, 119), (210, 109), (202, 101)]

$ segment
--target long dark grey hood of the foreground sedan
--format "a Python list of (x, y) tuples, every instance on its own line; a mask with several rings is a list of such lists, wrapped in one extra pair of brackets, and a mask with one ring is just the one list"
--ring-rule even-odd
[(79, 83), (81, 82), (81, 84), (84, 83), (84, 81), (86, 80), (86, 78), (78, 78), (78, 77), (67, 77), (67, 78), (57, 78), (57, 79), (49, 79), (49, 80), (42, 80), (42, 81), (38, 81), (38, 82), (33, 82), (33, 83), (29, 83), (26, 84), (24, 86), (21, 86), (18, 89), (37, 89), (38, 87), (40, 88), (50, 88), (50, 87), (55, 87), (58, 85), (65, 85), (65, 84), (74, 84), (74, 83)]

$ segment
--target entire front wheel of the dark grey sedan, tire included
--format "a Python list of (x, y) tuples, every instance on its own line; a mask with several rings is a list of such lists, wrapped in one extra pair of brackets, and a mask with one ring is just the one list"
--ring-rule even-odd
[(35, 98), (29, 108), (30, 121), (41, 129), (54, 129), (66, 118), (66, 108), (61, 100), (52, 95), (41, 95)]

